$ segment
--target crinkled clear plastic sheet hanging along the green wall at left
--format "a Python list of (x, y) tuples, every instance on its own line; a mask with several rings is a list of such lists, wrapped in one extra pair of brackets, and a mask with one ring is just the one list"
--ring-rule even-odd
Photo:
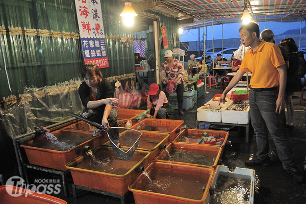
[(29, 133), (35, 127), (48, 126), (66, 120), (68, 112), (81, 112), (78, 88), (80, 79), (45, 86), (27, 88), (16, 102), (0, 111), (0, 119), (11, 138)]

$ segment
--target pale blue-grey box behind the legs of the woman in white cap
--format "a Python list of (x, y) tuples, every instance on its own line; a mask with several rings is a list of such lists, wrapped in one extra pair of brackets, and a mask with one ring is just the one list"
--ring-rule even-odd
[[(173, 92), (168, 97), (168, 102), (171, 103), (173, 109), (179, 109), (179, 104), (177, 103), (176, 99), (176, 92)], [(183, 109), (189, 110), (192, 109), (194, 106), (194, 94), (192, 91), (184, 92), (184, 100), (183, 100)]]

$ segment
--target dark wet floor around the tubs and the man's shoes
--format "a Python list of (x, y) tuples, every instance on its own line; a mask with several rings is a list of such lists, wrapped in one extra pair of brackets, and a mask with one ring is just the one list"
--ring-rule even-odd
[[(197, 112), (196, 109), (207, 101), (213, 98), (215, 94), (221, 94), (222, 91), (218, 88), (207, 89), (209, 92), (200, 99), (197, 99), (197, 104), (191, 110), (184, 110), (185, 116), (180, 116), (177, 110), (174, 110), (174, 118), (184, 120), (184, 128), (197, 128)], [(297, 167), (303, 171), (303, 161), (305, 161), (305, 142), (306, 142), (306, 104), (299, 104), (301, 92), (295, 92), (293, 96), (294, 112), (294, 128), (287, 130), (288, 142), (292, 148)], [(305, 96), (304, 96), (305, 97)], [(207, 129), (210, 124), (200, 123), (199, 127)], [(226, 127), (228, 128), (228, 127)], [(256, 187), (254, 189), (254, 203), (257, 204), (285, 204), (285, 203), (306, 203), (306, 185), (297, 184), (291, 176), (283, 169), (282, 163), (279, 161), (277, 152), (272, 139), (269, 139), (270, 153), (272, 160), (271, 167), (249, 167), (245, 166), (244, 162), (250, 156), (257, 152), (256, 139), (252, 128), (250, 128), (249, 143), (245, 144), (245, 128), (233, 127), (230, 130), (228, 140), (232, 142), (232, 146), (226, 145), (222, 156), (222, 163), (228, 166), (230, 170), (236, 167), (250, 168), (255, 170)], [(37, 172), (37, 171), (36, 171)], [(37, 175), (36, 175), (37, 176)], [(46, 174), (46, 176), (50, 176)], [(56, 176), (56, 175), (53, 175)], [(69, 175), (68, 175), (69, 178)], [(68, 182), (72, 182), (69, 178)], [(68, 203), (120, 203), (120, 199), (111, 196), (101, 195), (92, 192), (77, 190), (78, 198), (72, 197), (72, 190), (68, 184), (69, 197), (65, 197), (61, 191), (55, 195)], [(125, 203), (134, 203), (133, 194), (128, 193)], [(234, 202), (233, 202), (234, 203)]]

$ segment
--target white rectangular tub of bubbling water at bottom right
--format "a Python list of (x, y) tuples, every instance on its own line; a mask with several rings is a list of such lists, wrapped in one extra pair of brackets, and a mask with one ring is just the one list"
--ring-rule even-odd
[(207, 204), (247, 204), (254, 202), (254, 175), (252, 169), (217, 166)]

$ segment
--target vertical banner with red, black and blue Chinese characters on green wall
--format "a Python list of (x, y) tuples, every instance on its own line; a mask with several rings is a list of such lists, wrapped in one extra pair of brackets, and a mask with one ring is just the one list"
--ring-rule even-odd
[(74, 0), (85, 63), (109, 67), (100, 1)]

